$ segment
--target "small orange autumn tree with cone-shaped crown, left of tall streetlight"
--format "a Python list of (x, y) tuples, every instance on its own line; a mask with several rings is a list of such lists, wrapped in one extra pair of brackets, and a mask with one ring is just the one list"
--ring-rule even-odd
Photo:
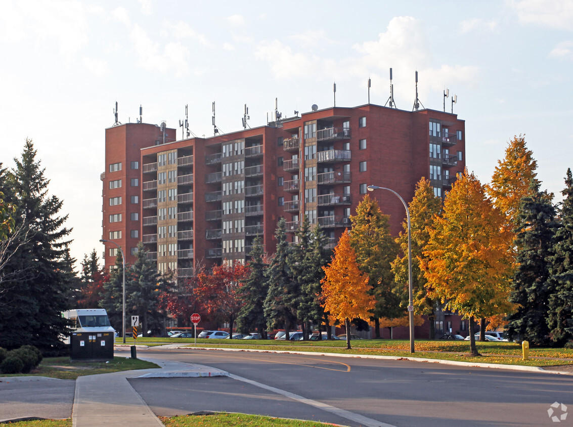
[(370, 319), (376, 301), (374, 296), (368, 294), (368, 276), (358, 268), (348, 229), (344, 230), (334, 248), (331, 263), (323, 270), (325, 277), (321, 280), (321, 306), (329, 313), (331, 320), (344, 322), (346, 348), (350, 350), (350, 319)]

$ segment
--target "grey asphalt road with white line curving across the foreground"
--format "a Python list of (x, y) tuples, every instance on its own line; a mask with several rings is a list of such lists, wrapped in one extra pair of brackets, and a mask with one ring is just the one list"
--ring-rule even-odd
[(569, 375), (246, 351), (150, 348), (138, 349), (138, 356), (199, 363), (242, 378), (131, 379), (158, 415), (229, 410), (351, 426), (471, 427), (556, 425), (547, 412), (554, 402), (573, 411)]

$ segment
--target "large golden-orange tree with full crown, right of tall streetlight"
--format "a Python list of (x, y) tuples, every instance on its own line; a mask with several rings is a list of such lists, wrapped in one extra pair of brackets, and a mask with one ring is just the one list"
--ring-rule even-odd
[(470, 349), (478, 355), (473, 319), (512, 311), (512, 233), (480, 181), (465, 173), (454, 183), (423, 252), (421, 268), (431, 295), (468, 318)]

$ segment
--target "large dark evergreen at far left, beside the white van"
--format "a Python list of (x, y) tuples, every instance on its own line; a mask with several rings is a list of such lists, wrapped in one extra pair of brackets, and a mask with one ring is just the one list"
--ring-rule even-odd
[(72, 308), (70, 265), (65, 260), (71, 230), (64, 226), (68, 216), (59, 216), (62, 201), (48, 195), (49, 180), (36, 154), (32, 141), (26, 140), (21, 158), (14, 159), (13, 173), (3, 173), (0, 189), (5, 197), (13, 195), (14, 229), (22, 230), (22, 238), (7, 249), (12, 255), (2, 269), (3, 275), (17, 279), (2, 295), (0, 347), (33, 344), (49, 350), (60, 346), (60, 336), (69, 332), (61, 313)]

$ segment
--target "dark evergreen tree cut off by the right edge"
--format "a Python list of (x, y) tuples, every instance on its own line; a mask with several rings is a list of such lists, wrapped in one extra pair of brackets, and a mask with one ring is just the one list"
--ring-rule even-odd
[(551, 289), (548, 327), (551, 340), (564, 344), (573, 339), (573, 176), (567, 169), (563, 202), (559, 212), (560, 228), (555, 233), (551, 258)]

